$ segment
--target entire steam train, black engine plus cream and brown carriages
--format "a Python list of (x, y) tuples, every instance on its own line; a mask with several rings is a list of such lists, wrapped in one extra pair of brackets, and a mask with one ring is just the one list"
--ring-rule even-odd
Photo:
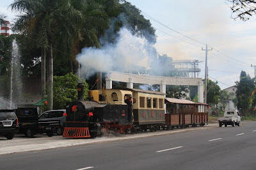
[(189, 100), (165, 98), (158, 91), (118, 88), (88, 92), (77, 85), (78, 100), (67, 108), (63, 137), (97, 137), (102, 132), (127, 133), (167, 130), (173, 127), (204, 126), (208, 121), (208, 105)]

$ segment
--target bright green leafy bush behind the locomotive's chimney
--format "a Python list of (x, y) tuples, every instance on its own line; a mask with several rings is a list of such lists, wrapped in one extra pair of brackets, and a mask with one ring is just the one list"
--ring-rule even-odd
[(82, 81), (84, 84), (84, 98), (87, 97), (88, 84), (86, 81), (79, 80), (79, 77), (73, 73), (63, 76), (54, 76), (53, 83), (53, 108), (65, 109), (68, 103), (77, 100), (77, 82)]

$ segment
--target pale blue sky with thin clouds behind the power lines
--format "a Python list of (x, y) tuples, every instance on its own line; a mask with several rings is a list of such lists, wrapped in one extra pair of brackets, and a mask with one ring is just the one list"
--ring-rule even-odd
[[(256, 17), (243, 22), (230, 18), (232, 14), (225, 0), (128, 0), (142, 12), (159, 20), (163, 24), (189, 36), (199, 42), (194, 42), (167, 29), (154, 21), (157, 43), (160, 54), (168, 54), (173, 59), (199, 59), (205, 61), (205, 52), (201, 47), (208, 43), (214, 49), (209, 53), (209, 75), (219, 81), (221, 88), (233, 86), (239, 80), (241, 70), (251, 77), (256, 64)], [(12, 22), (15, 13), (7, 10), (12, 0), (4, 0), (0, 11)], [(145, 16), (146, 17), (146, 16)], [(147, 18), (147, 17), (146, 17)], [(164, 33), (163, 33), (164, 32)], [(204, 77), (204, 63), (200, 64)], [(218, 71), (216, 71), (218, 70)], [(212, 78), (211, 78), (212, 79)]]

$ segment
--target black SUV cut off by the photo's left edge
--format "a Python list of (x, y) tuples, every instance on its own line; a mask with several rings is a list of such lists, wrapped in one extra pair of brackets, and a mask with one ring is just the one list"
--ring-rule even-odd
[(19, 128), (18, 118), (13, 110), (0, 110), (0, 135), (13, 139)]

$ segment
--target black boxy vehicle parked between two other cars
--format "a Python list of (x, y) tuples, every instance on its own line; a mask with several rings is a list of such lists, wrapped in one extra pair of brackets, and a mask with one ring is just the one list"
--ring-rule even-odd
[(38, 113), (35, 107), (19, 107), (15, 112), (19, 119), (19, 133), (26, 135), (26, 137), (44, 133), (51, 137), (54, 128), (60, 127), (60, 121), (38, 120)]

